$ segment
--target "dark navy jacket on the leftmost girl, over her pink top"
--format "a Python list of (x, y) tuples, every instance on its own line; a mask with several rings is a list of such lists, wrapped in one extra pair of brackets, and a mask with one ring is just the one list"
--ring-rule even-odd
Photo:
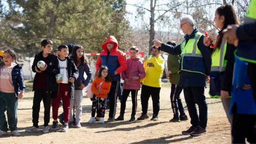
[[(4, 62), (1, 62), (0, 67), (2, 67), (3, 65), (4, 65)], [(20, 91), (25, 90), (25, 82), (22, 74), (22, 67), (23, 67), (23, 64), (17, 64), (12, 69), (12, 84), (14, 87), (16, 98), (18, 98)]]

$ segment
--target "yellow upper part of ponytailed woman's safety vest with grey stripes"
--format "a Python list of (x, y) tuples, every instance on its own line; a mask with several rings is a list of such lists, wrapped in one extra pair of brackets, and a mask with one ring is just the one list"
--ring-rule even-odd
[(212, 53), (212, 71), (224, 72), (227, 66), (227, 60), (225, 60), (225, 55), (227, 51), (227, 41), (222, 41), (220, 49), (216, 49)]

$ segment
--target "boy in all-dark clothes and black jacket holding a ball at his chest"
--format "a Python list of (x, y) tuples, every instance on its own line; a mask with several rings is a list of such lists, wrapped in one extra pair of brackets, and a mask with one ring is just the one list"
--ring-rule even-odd
[[(55, 76), (60, 73), (57, 56), (51, 54), (52, 44), (52, 41), (47, 39), (44, 39), (41, 42), (41, 48), (43, 51), (36, 54), (32, 65), (32, 71), (36, 73), (33, 82), (33, 91), (35, 91), (32, 107), (33, 127), (27, 129), (25, 132), (39, 131), (38, 118), (42, 99), (44, 102), (43, 133), (49, 132), (48, 123), (50, 122), (51, 100), (57, 96), (57, 83)], [(40, 60), (45, 62), (44, 68), (37, 67), (37, 62)]]

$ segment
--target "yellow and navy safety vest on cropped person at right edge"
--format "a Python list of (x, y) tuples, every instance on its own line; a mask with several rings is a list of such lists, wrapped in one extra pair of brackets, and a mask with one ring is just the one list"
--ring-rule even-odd
[[(244, 23), (256, 23), (256, 0), (251, 0)], [(235, 56), (246, 62), (256, 63), (256, 41), (239, 42)]]

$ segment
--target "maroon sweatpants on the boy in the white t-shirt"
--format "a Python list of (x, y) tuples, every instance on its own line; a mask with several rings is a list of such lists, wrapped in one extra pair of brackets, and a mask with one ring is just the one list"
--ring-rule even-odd
[(59, 85), (59, 92), (57, 98), (52, 99), (52, 118), (53, 120), (58, 119), (58, 110), (60, 107), (60, 98), (62, 98), (62, 107), (64, 112), (64, 122), (69, 121), (69, 110), (70, 110), (70, 92), (68, 92), (68, 84)]

